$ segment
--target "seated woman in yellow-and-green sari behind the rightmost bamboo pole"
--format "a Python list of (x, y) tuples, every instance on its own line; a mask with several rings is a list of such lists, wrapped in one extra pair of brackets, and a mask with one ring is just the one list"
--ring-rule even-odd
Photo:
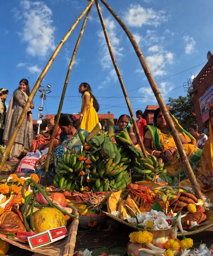
[[(202, 150), (196, 146), (196, 139), (180, 126), (173, 115), (170, 114), (170, 116), (174, 121), (192, 170), (195, 172)], [(186, 180), (187, 174), (180, 160), (178, 149), (160, 108), (155, 111), (153, 119), (154, 126), (147, 125), (148, 131), (144, 136), (143, 143), (146, 150), (149, 154), (163, 159), (169, 175), (179, 177), (180, 174), (180, 181)]]

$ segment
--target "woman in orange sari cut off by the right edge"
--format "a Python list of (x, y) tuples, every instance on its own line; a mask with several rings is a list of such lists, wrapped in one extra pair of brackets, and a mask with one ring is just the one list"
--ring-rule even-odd
[(210, 136), (203, 147), (196, 178), (202, 192), (213, 203), (213, 104), (209, 107), (209, 132)]

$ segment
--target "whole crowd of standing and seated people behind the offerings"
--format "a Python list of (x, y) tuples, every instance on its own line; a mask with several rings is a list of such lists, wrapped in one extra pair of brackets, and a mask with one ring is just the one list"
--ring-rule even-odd
[[(72, 150), (74, 147), (80, 149), (82, 144), (78, 133), (81, 132), (87, 137), (99, 122), (97, 114), (99, 104), (91, 92), (91, 86), (83, 82), (80, 84), (78, 91), (82, 94), (79, 119), (76, 119), (71, 114), (61, 114), (59, 119), (51, 156), (54, 158), (55, 163), (59, 161), (68, 149)], [(22, 79), (20, 81), (19, 87), (13, 92), (6, 111), (5, 100), (8, 92), (6, 88), (0, 89), (0, 144), (4, 143), (5, 145), (7, 145), (28, 100), (30, 94), (28, 80)], [(29, 152), (42, 151), (49, 148), (56, 116), (50, 119), (50, 127), (45, 133), (38, 134), (33, 138), (32, 108), (34, 108), (33, 102), (11, 148), (9, 161), (19, 161), (18, 157), (22, 148)], [(203, 191), (209, 196), (209, 194), (212, 194), (213, 189), (213, 105), (209, 108), (209, 124), (206, 125), (203, 133), (199, 132), (197, 124), (192, 124), (188, 132), (180, 126), (178, 120), (171, 113), (170, 116), (178, 131), (192, 170), (195, 172)], [(147, 153), (162, 158), (169, 175), (180, 177), (181, 181), (187, 180), (187, 174), (180, 161), (178, 149), (160, 108), (154, 113), (153, 125), (147, 125), (141, 110), (136, 111), (136, 117), (138, 130)], [(137, 146), (137, 136), (131, 117), (127, 114), (122, 114), (118, 118), (115, 132), (118, 133), (122, 129), (126, 129), (129, 132), (133, 145)], [(46, 157), (47, 155), (44, 154), (39, 159), (39, 164), (42, 164)]]

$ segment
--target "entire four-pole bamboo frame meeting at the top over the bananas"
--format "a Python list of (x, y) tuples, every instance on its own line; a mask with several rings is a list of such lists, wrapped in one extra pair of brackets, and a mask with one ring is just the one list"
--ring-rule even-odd
[[(65, 35), (65, 37), (62, 39), (62, 41), (60, 42), (59, 46), (55, 49), (53, 55), (51, 56), (49, 62), (47, 63), (47, 65), (45, 66), (44, 70), (42, 71), (42, 73), (40, 74), (37, 82), (35, 83), (32, 91), (31, 91), (31, 94), (29, 95), (29, 98), (26, 102), (26, 105), (22, 111), (22, 114), (21, 114), (21, 117), (20, 119), (18, 120), (16, 126), (15, 126), (15, 129), (13, 131), (13, 134), (11, 135), (10, 137), (10, 140), (7, 144), (7, 147), (5, 149), (5, 152), (4, 154), (2, 155), (2, 158), (1, 158), (1, 161), (0, 161), (0, 173), (1, 173), (1, 170), (2, 170), (2, 167), (4, 166), (5, 162), (6, 162), (6, 159), (10, 153), (10, 150), (12, 148), (12, 145), (15, 141), (15, 138), (17, 136), (17, 133), (18, 133), (18, 130), (20, 129), (21, 127), (21, 124), (23, 123), (23, 120), (24, 120), (24, 117), (26, 116), (27, 114), (27, 111), (28, 111), (28, 108), (33, 100), (33, 97), (35, 96), (35, 93), (36, 91), (38, 90), (38, 87), (41, 83), (41, 81), (43, 80), (44, 76), (47, 74), (47, 71), (49, 70), (51, 64), (53, 63), (56, 55), (59, 53), (61, 47), (63, 46), (63, 44), (66, 42), (67, 38), (70, 36), (70, 34), (72, 33), (72, 31), (74, 30), (74, 28), (77, 26), (78, 22), (81, 20), (81, 18), (84, 16), (84, 14), (89, 10), (89, 8), (92, 6), (94, 0), (87, 0), (89, 1), (89, 4), (87, 5), (86, 9), (84, 9), (84, 11), (80, 14), (80, 16), (77, 18), (77, 20), (73, 23), (72, 27), (70, 28), (70, 30), (67, 32), (67, 34)], [(144, 70), (144, 73), (146, 74), (147, 76), (147, 79), (149, 81), (149, 84), (153, 90), (153, 93), (158, 101), (158, 104), (160, 106), (160, 109), (165, 117), (165, 120), (166, 120), (166, 123), (173, 135), (173, 138), (174, 138), (174, 141), (175, 141), (175, 144), (178, 148), (178, 151), (179, 151), (179, 154), (180, 154), (180, 159), (184, 165), (184, 168), (187, 172), (187, 175), (189, 177), (189, 180), (192, 184), (192, 187), (194, 188), (196, 194), (198, 195), (199, 198), (202, 199), (202, 194), (201, 194), (201, 191), (200, 191), (200, 188), (198, 187), (198, 184), (197, 184), (197, 181), (196, 181), (196, 178), (195, 178), (195, 175), (193, 173), (193, 170), (190, 166), (190, 163), (189, 163), (189, 160), (185, 154), (185, 151), (183, 149), (183, 146), (182, 146), (182, 143), (181, 143), (181, 140), (179, 138), (179, 135), (178, 135), (178, 132), (177, 130), (175, 129), (175, 126), (174, 126), (174, 123), (169, 115), (169, 112), (168, 110), (166, 109), (166, 106), (165, 106), (165, 102), (163, 101), (163, 98), (162, 98), (162, 95), (160, 94), (159, 92), (159, 89), (158, 89), (158, 86), (156, 84), (156, 82), (154, 81), (154, 78), (151, 74), (151, 71), (149, 70), (149, 67), (146, 63), (146, 60), (144, 59), (143, 57), (143, 54), (141, 52), (141, 49), (140, 47), (138, 46), (135, 38), (133, 37), (132, 33), (129, 31), (129, 29), (127, 28), (127, 26), (125, 25), (125, 23), (121, 20), (121, 18), (113, 11), (113, 9), (107, 4), (107, 2), (105, 0), (100, 0), (104, 5), (105, 7), (107, 7), (107, 9), (109, 10), (109, 12), (114, 16), (114, 18), (118, 21), (118, 23), (120, 24), (120, 26), (123, 28), (123, 30), (125, 31), (125, 33), (127, 34), (128, 38), (130, 39), (130, 42), (132, 43), (132, 46), (133, 48), (135, 49), (135, 52), (138, 56), (138, 59), (140, 60), (140, 63), (142, 65), (142, 68)], [(118, 65), (116, 63), (116, 60), (115, 60), (115, 57), (114, 57), (114, 54), (113, 54), (113, 50), (111, 48), (111, 44), (110, 44), (110, 41), (109, 41), (109, 37), (108, 37), (108, 33), (107, 33), (107, 30), (106, 30), (106, 27), (105, 27), (105, 23), (104, 23), (104, 20), (103, 20), (103, 17), (102, 17), (102, 14), (101, 14), (101, 11), (100, 11), (100, 7), (99, 7), (99, 4), (98, 4), (98, 0), (95, 0), (95, 3), (96, 3), (96, 6), (97, 6), (97, 10), (98, 10), (98, 14), (99, 14), (99, 18), (100, 18), (100, 21), (102, 23), (102, 27), (103, 27), (103, 30), (104, 30), (104, 34), (105, 34), (105, 38), (106, 38), (106, 41), (107, 41), (107, 45), (108, 45), (108, 48), (109, 48), (109, 52), (110, 52), (110, 56), (111, 56), (111, 59), (113, 61), (113, 64), (114, 64), (114, 67), (115, 67), (115, 70), (116, 70), (116, 73), (118, 75), (118, 78), (119, 78), (119, 82), (121, 84), (121, 88), (122, 88), (122, 91), (124, 93), (124, 96), (125, 96), (125, 99), (126, 99), (126, 103), (127, 103), (127, 106), (129, 108), (129, 111), (130, 111), (130, 114), (131, 114), (131, 118), (132, 118), (132, 121), (133, 121), (133, 125), (134, 125), (134, 128), (136, 130), (136, 133), (137, 133), (137, 137), (138, 137), (138, 140), (140, 142), (140, 146), (141, 146), (141, 149), (143, 151), (143, 153), (146, 155), (146, 151), (145, 151), (145, 148), (144, 148), (144, 145), (141, 141), (141, 137), (140, 137), (140, 134), (139, 134), (139, 131), (138, 131), (138, 128), (137, 128), (137, 124), (136, 124), (136, 121), (135, 121), (135, 117), (134, 117), (134, 114), (133, 114), (133, 111), (132, 111), (132, 107), (131, 107), (131, 104), (130, 104), (130, 101), (129, 101), (129, 97), (127, 95), (127, 92), (126, 92), (126, 89), (125, 89), (125, 85), (124, 85), (124, 82), (122, 80), (122, 77), (121, 77), (121, 74), (120, 74), (120, 71), (119, 71), (119, 68), (118, 68)], [(89, 12), (89, 11), (88, 11)], [(85, 18), (86, 20), (86, 18)], [(85, 21), (84, 20), (84, 21)], [(82, 35), (80, 34), (79, 37), (81, 37)], [(78, 38), (79, 39), (79, 38)], [(80, 42), (80, 40), (79, 40)], [(76, 45), (79, 44), (78, 41), (76, 43)], [(77, 46), (78, 47), (78, 46)], [(77, 49), (76, 49), (77, 50)], [(75, 52), (75, 51), (74, 51)], [(74, 54), (74, 53), (73, 53)], [(76, 52), (75, 52), (76, 54)], [(74, 54), (74, 55), (75, 55)], [(73, 57), (72, 56), (72, 59), (74, 60), (75, 56)], [(64, 100), (64, 95), (65, 95), (65, 91), (66, 91), (66, 87), (67, 87), (67, 83), (68, 83), (68, 80), (69, 80), (69, 76), (70, 76), (70, 71), (71, 71), (71, 68), (72, 68), (72, 64), (73, 63), (73, 60), (71, 59), (71, 62), (70, 62), (70, 66), (69, 66), (69, 69), (68, 72), (67, 72), (67, 76), (66, 76), (66, 80), (65, 80), (65, 85), (64, 85), (64, 89), (63, 89), (63, 92), (62, 92), (62, 95), (61, 95), (61, 102), (60, 102), (60, 105), (59, 105), (59, 110), (58, 110), (58, 114), (57, 114), (57, 117), (56, 117), (56, 124), (57, 124), (57, 121), (59, 121), (59, 117), (60, 117), (60, 112), (61, 112), (61, 108), (62, 108), (62, 104), (63, 104), (63, 100)], [(56, 131), (56, 125), (55, 124), (55, 127), (54, 127), (54, 132)], [(51, 147), (53, 145), (53, 139), (54, 137), (52, 136), (51, 138)], [(49, 147), (49, 151), (48, 151), (48, 159), (50, 157), (50, 153), (51, 153), (51, 147)], [(46, 164), (45, 166), (45, 179), (47, 179), (47, 171), (48, 171), (48, 164)]]

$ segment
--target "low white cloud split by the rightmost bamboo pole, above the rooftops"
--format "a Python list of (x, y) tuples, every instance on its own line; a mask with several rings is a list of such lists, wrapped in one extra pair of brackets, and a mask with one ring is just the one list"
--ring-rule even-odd
[[(167, 95), (168, 94), (168, 91), (173, 89), (174, 86), (171, 85), (169, 82), (161, 82), (159, 85), (158, 85), (158, 89), (160, 91), (160, 93), (163, 93), (163, 95)], [(146, 86), (146, 87), (141, 87), (139, 90), (138, 90), (138, 93), (141, 95), (141, 96), (144, 96), (144, 97), (148, 97), (148, 98), (155, 98), (154, 94), (153, 94), (153, 91), (152, 91), (152, 88), (150, 86)], [(142, 102), (146, 102), (148, 101), (149, 99), (146, 99), (144, 98), (142, 100)]]

